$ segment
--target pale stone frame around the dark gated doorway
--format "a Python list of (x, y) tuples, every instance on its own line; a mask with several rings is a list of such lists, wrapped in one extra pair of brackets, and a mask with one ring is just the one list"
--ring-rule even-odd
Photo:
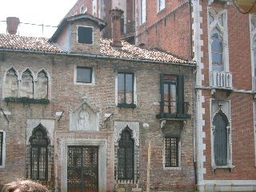
[(68, 146), (98, 146), (98, 191), (106, 191), (106, 139), (66, 138), (61, 141), (62, 192), (67, 192)]

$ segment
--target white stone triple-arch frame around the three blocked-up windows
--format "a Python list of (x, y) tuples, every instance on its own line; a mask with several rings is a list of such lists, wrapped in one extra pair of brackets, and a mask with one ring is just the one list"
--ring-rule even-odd
[(34, 90), (34, 92), (33, 92), (33, 98), (37, 98), (37, 93), (36, 93), (36, 82), (37, 82), (37, 78), (38, 78), (38, 74), (40, 74), (41, 72), (44, 72), (44, 73), (46, 73), (46, 75), (47, 75), (47, 78), (48, 78), (48, 97), (47, 97), (47, 99), (49, 99), (50, 100), (50, 98), (51, 98), (51, 78), (50, 78), (50, 73), (47, 71), (47, 70), (45, 70), (44, 68), (42, 68), (41, 70), (38, 70), (38, 73), (34, 73), (34, 71), (33, 70), (31, 70), (30, 69), (30, 67), (27, 67), (25, 70), (22, 70), (21, 72), (18, 72), (18, 70), (17, 69), (15, 69), (15, 67), (14, 66), (11, 66), (10, 68), (8, 68), (7, 70), (6, 70), (6, 72), (5, 72), (5, 74), (4, 74), (4, 76), (3, 76), (3, 79), (2, 79), (2, 100), (4, 99), (4, 98), (6, 98), (6, 93), (5, 93), (5, 85), (6, 85), (6, 75), (7, 75), (7, 73), (10, 71), (10, 70), (14, 70), (15, 71), (15, 73), (17, 74), (17, 78), (18, 78), (18, 98), (20, 98), (20, 96), (21, 96), (21, 94), (20, 94), (20, 88), (21, 88), (21, 82), (22, 82), (22, 74), (24, 73), (24, 72), (26, 72), (27, 70), (29, 70), (30, 71), (30, 73), (31, 73), (31, 75), (32, 75), (32, 78), (33, 78), (33, 90)]

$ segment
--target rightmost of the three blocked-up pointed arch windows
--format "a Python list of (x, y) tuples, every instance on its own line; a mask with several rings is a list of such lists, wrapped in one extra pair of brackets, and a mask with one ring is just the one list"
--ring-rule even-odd
[(42, 70), (38, 73), (38, 78), (36, 82), (36, 94), (37, 98), (48, 98), (48, 85), (49, 84), (49, 79), (46, 74), (45, 70)]

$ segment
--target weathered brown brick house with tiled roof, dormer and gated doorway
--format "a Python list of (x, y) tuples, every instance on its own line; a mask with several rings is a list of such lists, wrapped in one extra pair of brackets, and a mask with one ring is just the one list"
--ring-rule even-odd
[[(120, 10), (112, 10), (118, 29)], [(193, 189), (195, 63), (100, 38), (90, 14), (50, 40), (0, 35), (0, 185)], [(148, 172), (150, 171), (150, 172)]]

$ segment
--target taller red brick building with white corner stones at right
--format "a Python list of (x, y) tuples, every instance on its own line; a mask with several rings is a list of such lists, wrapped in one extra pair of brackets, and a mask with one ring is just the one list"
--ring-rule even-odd
[(198, 189), (255, 191), (255, 16), (225, 0), (138, 0), (135, 6), (138, 45), (197, 62)]

